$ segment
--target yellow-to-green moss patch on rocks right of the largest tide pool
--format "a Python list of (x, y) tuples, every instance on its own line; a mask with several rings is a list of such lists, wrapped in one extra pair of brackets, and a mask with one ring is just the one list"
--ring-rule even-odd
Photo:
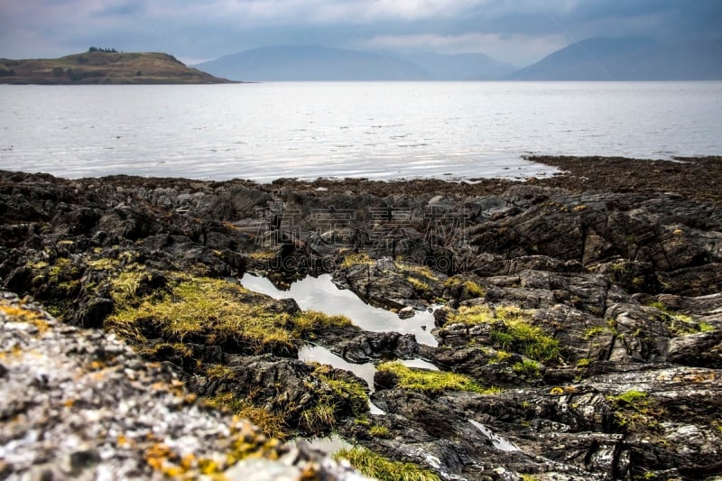
[(449, 316), (449, 322), (463, 324), (491, 324), (501, 321), (504, 328), (493, 328), (491, 337), (503, 350), (514, 350), (541, 362), (554, 362), (560, 357), (560, 343), (546, 334), (542, 328), (529, 322), (531, 310), (500, 306), (494, 310), (487, 306), (462, 306)]

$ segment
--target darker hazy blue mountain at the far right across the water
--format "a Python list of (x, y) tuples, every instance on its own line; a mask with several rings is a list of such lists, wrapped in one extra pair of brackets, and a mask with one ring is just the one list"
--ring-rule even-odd
[(722, 79), (722, 41), (663, 45), (645, 38), (588, 39), (555, 51), (504, 79)]

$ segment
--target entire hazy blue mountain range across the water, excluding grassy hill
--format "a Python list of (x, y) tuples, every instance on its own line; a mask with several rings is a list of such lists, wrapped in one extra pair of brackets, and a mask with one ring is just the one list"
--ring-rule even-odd
[(236, 80), (709, 80), (722, 79), (722, 41), (663, 44), (647, 37), (594, 37), (518, 69), (484, 53), (353, 51), (273, 45), (197, 67)]

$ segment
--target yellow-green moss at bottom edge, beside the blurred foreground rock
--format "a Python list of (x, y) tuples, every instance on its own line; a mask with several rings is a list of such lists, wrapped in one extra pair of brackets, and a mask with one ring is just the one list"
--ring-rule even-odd
[(440, 477), (412, 463), (384, 458), (370, 449), (341, 449), (335, 458), (347, 459), (362, 474), (380, 481), (440, 481)]

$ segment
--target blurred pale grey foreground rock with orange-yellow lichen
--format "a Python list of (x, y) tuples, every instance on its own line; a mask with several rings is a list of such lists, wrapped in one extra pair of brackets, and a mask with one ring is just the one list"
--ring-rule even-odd
[(61, 324), (7, 291), (0, 386), (3, 479), (364, 479), (196, 402), (114, 334)]

